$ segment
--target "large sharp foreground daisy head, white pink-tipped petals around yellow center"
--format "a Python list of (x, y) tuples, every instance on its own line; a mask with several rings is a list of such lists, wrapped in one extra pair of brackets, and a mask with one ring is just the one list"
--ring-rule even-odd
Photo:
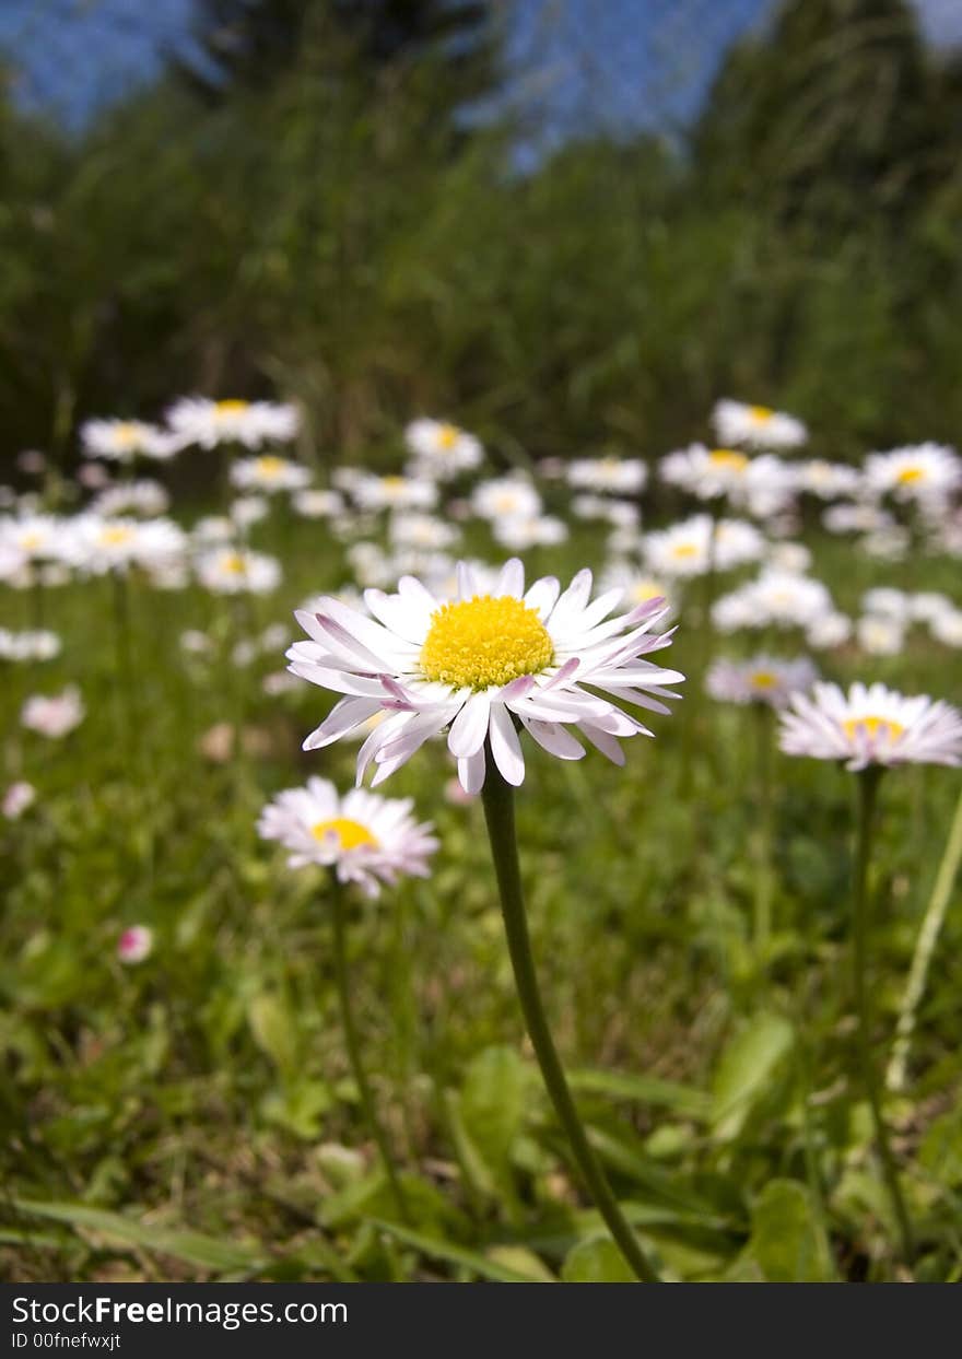
[(394, 595), (366, 591), (376, 621), (336, 599), (323, 599), (315, 614), (298, 614), (311, 640), (291, 647), (291, 670), (344, 694), (307, 737), (306, 750), (348, 735), (383, 708), (390, 716), (357, 757), (359, 783), (371, 764), (378, 766), (374, 784), (382, 783), (450, 727), (447, 745), (461, 783), (466, 792), (477, 792), (485, 780), (485, 746), (507, 783), (523, 781), (515, 719), (537, 745), (563, 760), (584, 754), (571, 727), (616, 764), (624, 762), (618, 737), (651, 735), (602, 694), (669, 711), (660, 701), (673, 697), (664, 685), (683, 677), (641, 659), (670, 643), (670, 633), (651, 633), (664, 616), (662, 601), (611, 618), (621, 591), (590, 602), (590, 571), (580, 571), (564, 593), (553, 576), (526, 593), (516, 559), (484, 593), (465, 563), (458, 575), (451, 603), (404, 576)]

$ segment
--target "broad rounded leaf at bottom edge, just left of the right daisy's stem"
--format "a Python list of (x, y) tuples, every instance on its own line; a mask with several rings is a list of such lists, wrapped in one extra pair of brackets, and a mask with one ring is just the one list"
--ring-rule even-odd
[(751, 1212), (745, 1254), (769, 1283), (827, 1283), (832, 1252), (806, 1185), (769, 1180)]

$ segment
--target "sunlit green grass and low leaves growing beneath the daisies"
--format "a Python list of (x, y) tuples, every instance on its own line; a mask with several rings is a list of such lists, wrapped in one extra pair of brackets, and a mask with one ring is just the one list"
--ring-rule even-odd
[[(5, 677), (8, 776), (39, 798), (0, 825), (0, 1272), (57, 1279), (617, 1279), (526, 1048), (480, 803), (444, 798), (443, 746), (385, 791), (413, 795), (442, 849), (429, 881), (357, 901), (355, 1004), (412, 1223), (393, 1210), (337, 1021), (325, 881), (260, 843), (266, 798), (310, 773), (348, 787), (355, 747), (306, 756), (322, 690), (261, 690), (235, 636), (346, 579), (323, 526), (253, 533), (279, 550), (276, 597), (231, 610), (196, 590), (132, 591), (133, 693), (118, 686), (107, 583), (49, 591), (63, 656)], [(951, 590), (950, 564), (882, 567), (814, 542), (815, 572), (855, 606), (870, 583)], [(537, 560), (535, 560), (537, 556)], [(586, 529), (531, 573), (601, 565)], [(617, 1195), (664, 1272), (685, 1279), (904, 1276), (853, 1091), (848, 983), (851, 776), (776, 757), (773, 934), (751, 942), (758, 800), (750, 713), (701, 693), (696, 591), (670, 663), (689, 674), (628, 766), (526, 750), (518, 798), (531, 928), (556, 1038)], [(7, 591), (4, 622), (34, 601)], [(211, 663), (185, 628), (212, 628)], [(291, 636), (295, 636), (292, 622)], [(738, 650), (717, 643), (716, 650)], [(785, 643), (789, 651), (798, 647)], [(833, 678), (958, 699), (954, 656), (921, 639), (855, 652)], [(63, 742), (19, 733), (26, 692), (77, 682)], [(201, 738), (240, 718), (251, 749)], [(130, 739), (130, 719), (137, 738)], [(883, 784), (872, 992), (885, 1057), (958, 775)], [(958, 900), (958, 898), (955, 898)], [(128, 924), (156, 931), (122, 968)], [(950, 906), (890, 1105), (920, 1239), (916, 1276), (962, 1272), (958, 953)]]

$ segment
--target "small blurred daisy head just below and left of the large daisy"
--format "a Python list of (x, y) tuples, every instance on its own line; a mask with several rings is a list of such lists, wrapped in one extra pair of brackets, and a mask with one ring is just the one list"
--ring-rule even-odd
[(315, 863), (333, 868), (341, 882), (356, 882), (368, 897), (380, 883), (405, 874), (428, 877), (428, 858), (438, 849), (431, 825), (412, 817), (410, 798), (382, 798), (366, 788), (341, 796), (327, 779), (308, 779), (269, 802), (257, 822), (264, 840), (288, 851), (292, 868)]

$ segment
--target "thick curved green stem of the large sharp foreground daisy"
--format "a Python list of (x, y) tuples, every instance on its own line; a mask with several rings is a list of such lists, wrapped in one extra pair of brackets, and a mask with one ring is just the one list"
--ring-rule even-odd
[(607, 1182), (605, 1171), (591, 1150), (584, 1125), (572, 1099), (564, 1067), (554, 1048), (554, 1040), (548, 1025), (541, 1000), (538, 977), (531, 954), (531, 939), (524, 915), (520, 871), (518, 867), (518, 843), (515, 839), (514, 790), (497, 772), (491, 752), (488, 752), (488, 773), (482, 790), (484, 814), (488, 822), (488, 839), (495, 860), (495, 872), (501, 897), (504, 932), (515, 973), (518, 999), (520, 1000), (534, 1053), (541, 1067), (545, 1087), (554, 1105), (571, 1150), (582, 1173), (582, 1178), (595, 1201), (598, 1212), (621, 1249), (625, 1260), (644, 1283), (658, 1283), (659, 1277), (651, 1261), (641, 1249), (637, 1237), (625, 1219), (618, 1201)]

